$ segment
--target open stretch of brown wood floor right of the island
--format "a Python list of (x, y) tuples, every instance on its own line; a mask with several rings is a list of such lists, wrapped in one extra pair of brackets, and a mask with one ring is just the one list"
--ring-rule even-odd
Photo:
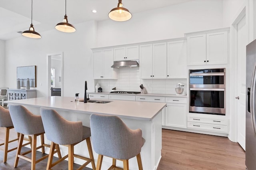
[(158, 170), (245, 170), (245, 152), (227, 137), (162, 130)]

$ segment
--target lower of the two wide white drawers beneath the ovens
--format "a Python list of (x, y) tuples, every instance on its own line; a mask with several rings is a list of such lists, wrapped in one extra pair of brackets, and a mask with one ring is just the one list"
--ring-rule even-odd
[(198, 130), (228, 133), (228, 126), (225, 126), (225, 125), (212, 125), (212, 124), (206, 124), (206, 123), (188, 122), (187, 127), (198, 129)]

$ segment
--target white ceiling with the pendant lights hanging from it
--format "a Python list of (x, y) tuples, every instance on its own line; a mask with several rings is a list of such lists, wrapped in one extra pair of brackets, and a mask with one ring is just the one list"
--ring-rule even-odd
[[(190, 0), (122, 0), (132, 14)], [(90, 20), (110, 20), (108, 12), (116, 8), (118, 0), (67, 0), (68, 22), (76, 24)], [(92, 10), (97, 10), (92, 13)], [(65, 0), (33, 0), (32, 23), (36, 32), (52, 30), (65, 15)], [(113, 21), (115, 22), (115, 21)], [(0, 0), (0, 40), (20, 37), (31, 24), (31, 0)]]

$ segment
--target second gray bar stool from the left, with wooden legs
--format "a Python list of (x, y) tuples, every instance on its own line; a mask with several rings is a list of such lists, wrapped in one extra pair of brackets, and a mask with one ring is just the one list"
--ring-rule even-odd
[[(14, 167), (18, 166), (19, 158), (22, 158), (31, 162), (31, 170), (35, 170), (36, 163), (48, 158), (48, 155), (46, 155), (36, 160), (36, 150), (42, 148), (42, 154), (44, 154), (44, 146), (50, 147), (49, 145), (44, 144), (44, 127), (41, 116), (33, 115), (30, 111), (28, 111), (28, 109), (21, 105), (9, 104), (9, 111), (14, 125), (14, 129), (16, 130), (16, 132), (20, 133)], [(21, 154), (20, 152), (22, 148), (24, 134), (32, 137), (32, 149)], [(36, 147), (37, 136), (41, 136), (41, 145), (38, 147)], [(57, 150), (55, 150), (54, 152), (58, 152), (58, 156), (59, 158), (61, 158), (60, 148), (58, 146), (56, 146), (56, 148)], [(32, 154), (31, 159), (25, 156), (30, 152)]]

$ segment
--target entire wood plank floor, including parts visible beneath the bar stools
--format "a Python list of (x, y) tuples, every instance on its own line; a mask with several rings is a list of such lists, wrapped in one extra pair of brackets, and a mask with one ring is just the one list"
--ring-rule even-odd
[[(16, 132), (11, 129), (10, 138), (15, 137)], [(0, 128), (0, 143), (3, 141), (4, 128)], [(12, 142), (9, 148), (16, 147), (17, 144), (17, 141)], [(3, 163), (3, 151), (0, 150), (0, 170), (30, 169), (30, 162), (22, 159), (19, 160), (18, 167), (13, 168), (15, 155), (16, 150), (9, 152), (7, 162)], [(38, 152), (37, 156), (42, 156), (41, 152)], [(37, 163), (36, 169), (45, 169), (46, 164), (47, 159)], [(67, 166), (68, 162), (64, 161), (52, 169), (67, 170)], [(74, 169), (76, 168), (78, 165), (75, 164)], [(245, 168), (244, 150), (227, 137), (162, 129), (162, 159), (157, 170), (245, 170)]]

